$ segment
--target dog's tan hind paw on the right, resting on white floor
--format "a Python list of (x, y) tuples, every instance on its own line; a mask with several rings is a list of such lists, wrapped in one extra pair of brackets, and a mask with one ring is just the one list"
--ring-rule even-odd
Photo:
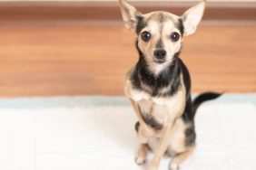
[(169, 170), (178, 170), (182, 161), (184, 161), (187, 157), (192, 155), (194, 147), (195, 146), (192, 146), (192, 147), (188, 148), (188, 150), (174, 156), (172, 158), (172, 161), (170, 162)]

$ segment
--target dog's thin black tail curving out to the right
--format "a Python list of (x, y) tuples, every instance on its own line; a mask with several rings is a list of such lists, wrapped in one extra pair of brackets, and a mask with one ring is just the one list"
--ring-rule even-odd
[(199, 108), (199, 106), (202, 104), (202, 102), (211, 100), (211, 99), (217, 99), (219, 98), (223, 93), (216, 93), (216, 92), (204, 92), (197, 96), (192, 101), (192, 117), (194, 118), (196, 110)]

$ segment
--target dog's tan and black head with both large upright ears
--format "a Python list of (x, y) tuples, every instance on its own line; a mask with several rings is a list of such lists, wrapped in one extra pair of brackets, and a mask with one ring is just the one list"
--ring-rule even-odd
[(182, 16), (162, 11), (142, 14), (126, 0), (119, 3), (125, 27), (137, 34), (137, 47), (154, 72), (169, 65), (181, 51), (182, 37), (195, 32), (205, 8), (203, 1)]

